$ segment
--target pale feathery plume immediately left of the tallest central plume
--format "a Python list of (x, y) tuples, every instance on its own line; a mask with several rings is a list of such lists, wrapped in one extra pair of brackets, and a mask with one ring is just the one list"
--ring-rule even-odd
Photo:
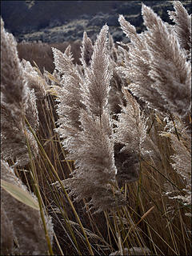
[[(55, 68), (61, 74), (60, 86), (55, 87), (58, 101), (58, 133), (61, 138), (66, 138), (66, 126), (71, 127), (69, 136), (74, 135), (74, 127), (80, 129), (79, 113), (84, 108), (80, 84), (82, 76), (74, 66), (70, 46), (66, 48), (64, 54), (60, 50), (54, 49)], [(69, 129), (68, 129), (69, 132)]]

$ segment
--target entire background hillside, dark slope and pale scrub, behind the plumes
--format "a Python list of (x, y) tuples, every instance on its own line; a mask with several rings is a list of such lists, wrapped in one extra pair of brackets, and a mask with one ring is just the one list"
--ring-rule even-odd
[[(104, 24), (110, 27), (114, 41), (126, 42), (118, 14), (141, 32), (142, 2), (170, 22), (167, 10), (173, 10), (172, 1), (2, 1), (2, 18), (18, 42), (82, 40), (83, 31), (94, 40)], [(181, 2), (191, 13), (191, 1)]]

